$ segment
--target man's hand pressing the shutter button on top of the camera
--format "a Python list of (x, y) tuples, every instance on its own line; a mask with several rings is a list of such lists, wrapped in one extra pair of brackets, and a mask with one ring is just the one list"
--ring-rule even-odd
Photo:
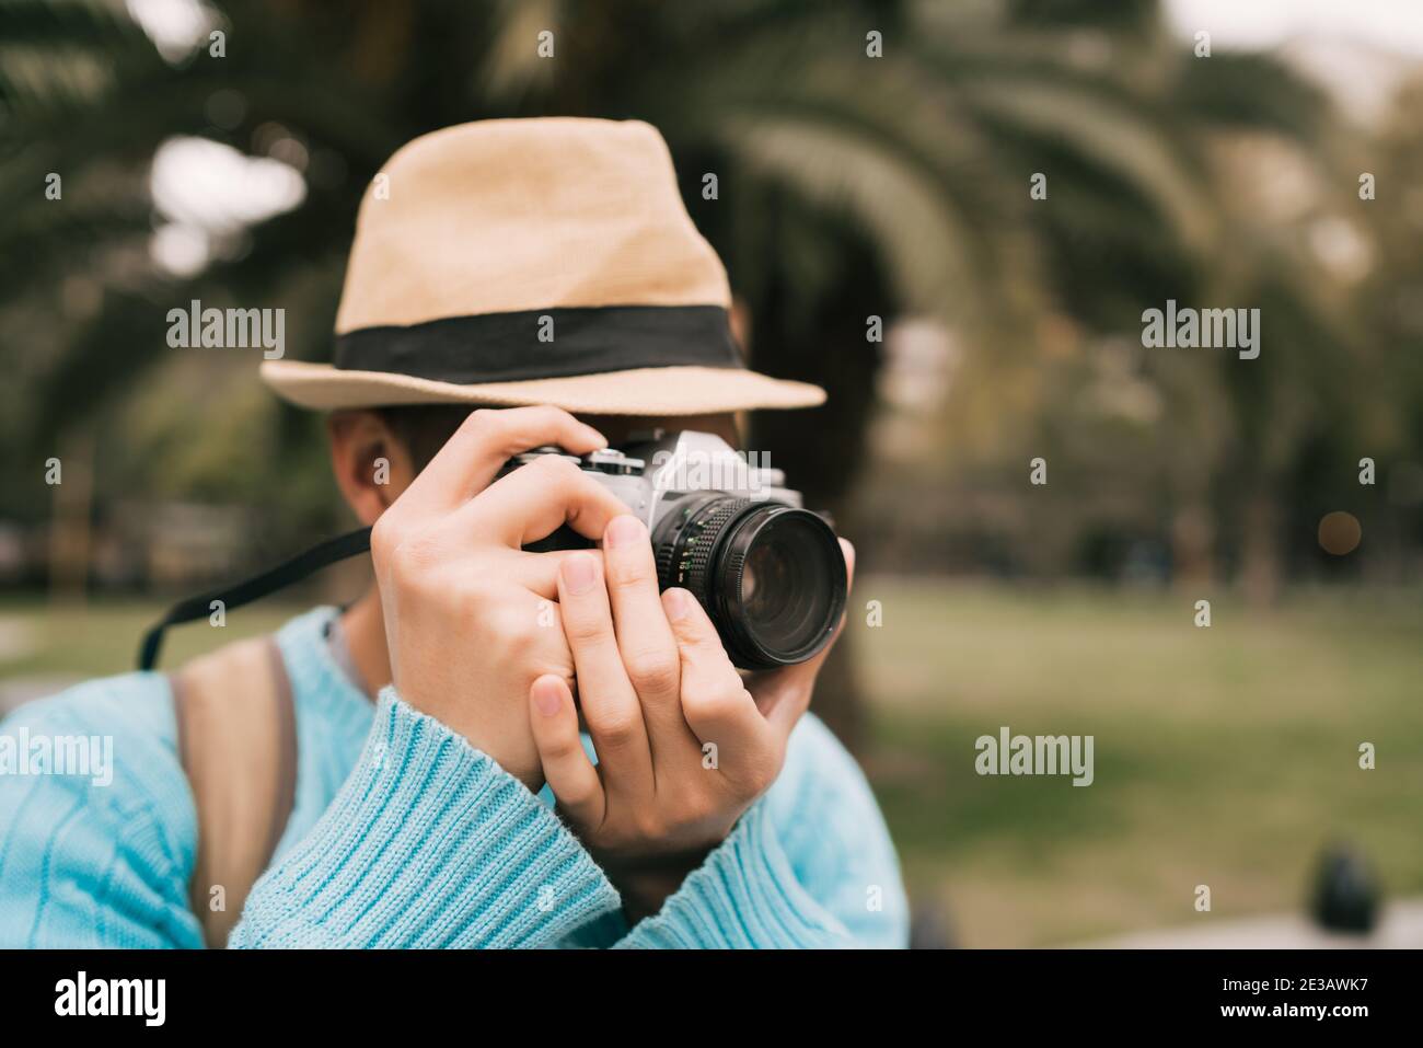
[(558, 608), (562, 552), (521, 547), (568, 524), (602, 538), (626, 513), (556, 456), (492, 483), (512, 456), (556, 444), (586, 454), (602, 434), (555, 407), (474, 412), (381, 514), (370, 548), (400, 696), (494, 758), (531, 790), (544, 783), (528, 693), (573, 681)]

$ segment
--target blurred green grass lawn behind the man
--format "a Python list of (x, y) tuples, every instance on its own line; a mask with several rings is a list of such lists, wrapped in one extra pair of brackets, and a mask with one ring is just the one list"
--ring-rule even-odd
[[(1042, 945), (1294, 910), (1326, 842), (1423, 893), (1423, 601), (1301, 594), (1269, 612), (1194, 595), (865, 578), (852, 622), (865, 763), (919, 901), (965, 945)], [(0, 678), (131, 668), (157, 604), (0, 601)], [(263, 604), (172, 631), (165, 664), (273, 628)], [(14, 656), (17, 638), (33, 651)], [(975, 739), (1091, 735), (1096, 782), (979, 777)], [(1376, 770), (1360, 770), (1372, 742)], [(1208, 884), (1212, 911), (1192, 908)]]

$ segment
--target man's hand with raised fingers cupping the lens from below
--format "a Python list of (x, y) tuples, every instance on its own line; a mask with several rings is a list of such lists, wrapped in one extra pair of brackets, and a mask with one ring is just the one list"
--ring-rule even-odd
[(558, 597), (598, 766), (581, 745), (566, 675), (534, 681), (529, 722), (561, 810), (636, 920), (656, 913), (776, 780), (828, 648), (743, 681), (690, 592), (657, 597), (647, 530), (630, 515), (608, 525), (602, 558), (564, 558)]

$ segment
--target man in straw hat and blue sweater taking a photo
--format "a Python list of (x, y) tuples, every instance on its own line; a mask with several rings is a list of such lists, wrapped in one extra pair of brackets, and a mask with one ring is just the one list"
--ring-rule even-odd
[[(490, 121), (397, 152), (334, 366), (263, 365), (332, 412), (374, 525), (376, 587), (276, 636), (295, 775), (233, 742), (265, 723), (260, 661), (23, 708), (6, 733), (111, 736), (112, 783), (0, 777), (0, 945), (904, 945), (879, 812), (805, 715), (824, 654), (743, 678), (605, 487), (556, 456), (497, 480), (535, 447), (734, 441), (737, 412), (818, 403), (741, 367), (729, 305), (645, 124)], [(565, 524), (596, 548), (522, 548)], [(213, 873), (243, 850), (246, 880)]]

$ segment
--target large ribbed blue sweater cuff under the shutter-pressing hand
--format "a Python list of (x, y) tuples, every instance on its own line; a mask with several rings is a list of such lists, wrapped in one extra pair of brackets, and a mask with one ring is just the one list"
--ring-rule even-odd
[(342, 792), (253, 887), (231, 944), (539, 947), (619, 906), (524, 783), (387, 688)]

